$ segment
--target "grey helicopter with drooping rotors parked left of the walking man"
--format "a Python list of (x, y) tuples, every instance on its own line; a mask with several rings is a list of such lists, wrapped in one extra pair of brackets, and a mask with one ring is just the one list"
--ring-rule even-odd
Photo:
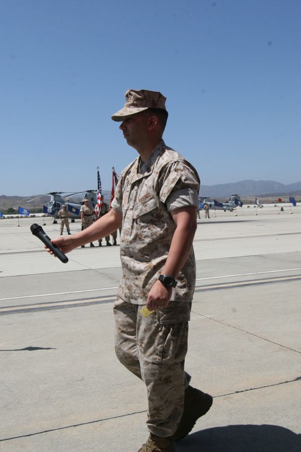
[(26, 202), (32, 202), (36, 199), (39, 199), (45, 195), (50, 195), (50, 200), (47, 203), (47, 205), (43, 205), (43, 212), (47, 213), (48, 215), (52, 215), (54, 217), (53, 223), (56, 224), (58, 218), (59, 210), (62, 208), (62, 205), (65, 204), (67, 207), (69, 213), (71, 222), (75, 221), (75, 218), (80, 218), (80, 208), (84, 201), (82, 201), (81, 204), (77, 202), (70, 202), (69, 200), (65, 200), (64, 198), (69, 198), (70, 196), (74, 196), (76, 194), (85, 193), (83, 196), (83, 200), (85, 198), (89, 199), (89, 204), (95, 207), (95, 204), (97, 203), (97, 190), (86, 190), (86, 191), (78, 191), (75, 193), (68, 193), (62, 196), (64, 193), (67, 193), (66, 191), (53, 191), (50, 193), (45, 193), (44, 195), (37, 196), (36, 198), (30, 199)]

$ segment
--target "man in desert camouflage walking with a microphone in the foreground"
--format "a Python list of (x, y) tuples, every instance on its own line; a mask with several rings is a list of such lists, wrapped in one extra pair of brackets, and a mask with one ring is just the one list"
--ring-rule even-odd
[[(147, 388), (150, 434), (139, 452), (173, 452), (173, 441), (190, 432), (213, 400), (191, 387), (184, 371), (200, 180), (194, 167), (162, 139), (166, 98), (132, 89), (125, 97), (125, 106), (112, 120), (121, 122), (119, 129), (139, 157), (120, 174), (111, 210), (71, 240), (54, 242), (67, 253), (122, 224), (116, 355)], [(148, 316), (142, 315), (145, 306)]]

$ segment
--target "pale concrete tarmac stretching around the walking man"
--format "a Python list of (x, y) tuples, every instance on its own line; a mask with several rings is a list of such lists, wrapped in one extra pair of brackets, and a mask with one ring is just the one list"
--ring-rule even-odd
[[(291, 210), (201, 212), (186, 369), (214, 402), (177, 452), (301, 451), (301, 206)], [(146, 393), (114, 354), (119, 246), (62, 264), (30, 232), (44, 219), (19, 222), (0, 220), (0, 450), (136, 452)]]

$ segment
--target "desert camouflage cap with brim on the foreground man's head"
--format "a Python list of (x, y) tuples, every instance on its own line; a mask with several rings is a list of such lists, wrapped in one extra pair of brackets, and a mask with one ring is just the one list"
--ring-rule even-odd
[(128, 89), (125, 93), (125, 105), (111, 118), (113, 121), (123, 121), (124, 116), (135, 115), (147, 108), (165, 107), (166, 97), (159, 91), (148, 91), (147, 89)]

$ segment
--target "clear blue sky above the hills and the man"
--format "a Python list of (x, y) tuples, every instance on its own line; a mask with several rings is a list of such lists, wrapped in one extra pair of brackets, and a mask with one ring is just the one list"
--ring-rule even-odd
[(299, 0), (0, 0), (0, 194), (110, 190), (128, 88), (202, 184), (299, 181), (300, 44)]

